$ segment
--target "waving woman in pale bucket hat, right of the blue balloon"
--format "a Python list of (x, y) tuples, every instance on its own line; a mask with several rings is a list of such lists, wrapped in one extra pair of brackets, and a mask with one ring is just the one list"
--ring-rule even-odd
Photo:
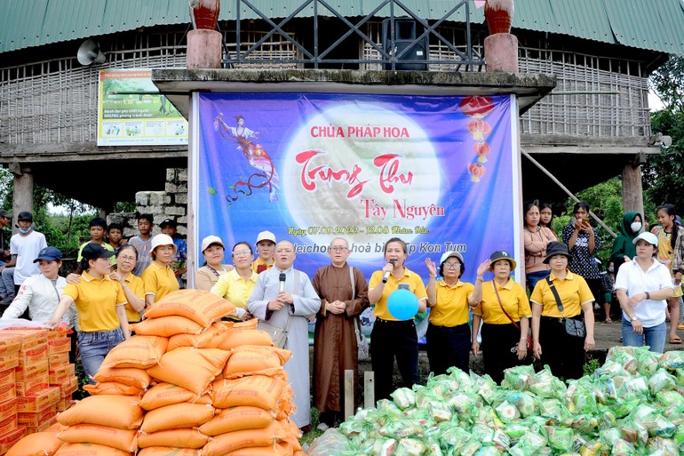
[[(430, 280), (427, 283), (427, 307), (430, 324), (427, 325), (427, 359), (435, 375), (446, 373), (451, 366), (469, 372), (470, 320), (469, 308), (477, 305), (479, 297), (473, 293), (473, 284), (461, 282), (465, 272), (463, 256), (458, 252), (441, 255), (440, 268), (426, 258)], [(481, 279), (482, 265), (477, 270)], [(443, 279), (437, 282), (436, 276)]]

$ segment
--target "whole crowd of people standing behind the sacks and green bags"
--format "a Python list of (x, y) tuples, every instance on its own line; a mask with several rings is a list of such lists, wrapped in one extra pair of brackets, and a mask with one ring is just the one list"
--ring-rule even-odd
[[(344, 418), (345, 371), (353, 370), (358, 381), (358, 319), (369, 306), (376, 317), (370, 336), (375, 399), (388, 398), (394, 390), (394, 362), (402, 386), (420, 381), (413, 318), (397, 318), (389, 306), (398, 289), (415, 295), (417, 313), (429, 309), (426, 348), (434, 374), (452, 366), (467, 372), (472, 353), (483, 356), (484, 372), (497, 382), (506, 368), (529, 363), (532, 357), (562, 378), (577, 379), (583, 374), (585, 351), (595, 345), (594, 303), (604, 304), (613, 290), (623, 311), (624, 345), (647, 344), (662, 352), (668, 309), (669, 341), (677, 343), (684, 228), (672, 205), (658, 208), (654, 233), (643, 231), (639, 213), (624, 215), (611, 252), (610, 264), (616, 269), (609, 267), (608, 274), (594, 260), (600, 239), (588, 221), (587, 204), (575, 205), (574, 219), (562, 228), (560, 239), (550, 205), (535, 202), (524, 210), (527, 290), (513, 280), (517, 263), (510, 252), (491, 253), (475, 268), (470, 284), (462, 281), (463, 253), (445, 252), (439, 263), (428, 258), (424, 268), (412, 266), (420, 268), (414, 271), (407, 267), (407, 244), (398, 237), (386, 241), (382, 267), (368, 282), (347, 262), (351, 251), (341, 237), (330, 242), (330, 264), (310, 279), (294, 267), (294, 245), (277, 241), (270, 231), (258, 233), (256, 254), (250, 242), (235, 243), (230, 260), (222, 239), (206, 236), (195, 288), (235, 304), (235, 313), (226, 318), (258, 318), (258, 327), (271, 333), (274, 343), (293, 352), (285, 369), (296, 394), (293, 420), (305, 430), (311, 422), (310, 321), (315, 320), (313, 404), (321, 412), (320, 428)], [(3, 318), (23, 316), (52, 327), (68, 322), (76, 328), (89, 379), (108, 351), (131, 337), (130, 325), (140, 321), (145, 308), (185, 286), (187, 244), (178, 236), (175, 220), (163, 220), (163, 232), (152, 236), (152, 216), (139, 214), (139, 235), (128, 241), (121, 225), (91, 220), (91, 240), (79, 249), (76, 273), (65, 279), (59, 276), (61, 252), (33, 229), (30, 212), (17, 219), (20, 231), (12, 236), (10, 251), (4, 252), (7, 261), (0, 265), (3, 278), (13, 269), (12, 290), (4, 281), (0, 288), (5, 299), (11, 298), (5, 301), (9, 307)], [(11, 220), (12, 214), (0, 211), (0, 225)], [(428, 276), (426, 284), (421, 275)], [(614, 285), (606, 278), (613, 275)], [(604, 310), (609, 322), (609, 298)]]

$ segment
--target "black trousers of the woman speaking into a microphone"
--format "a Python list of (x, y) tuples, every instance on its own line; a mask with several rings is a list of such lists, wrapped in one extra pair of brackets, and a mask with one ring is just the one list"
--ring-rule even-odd
[(411, 388), (418, 378), (418, 333), (413, 320), (394, 322), (378, 318), (370, 333), (370, 364), (375, 372), (375, 400), (389, 399), (394, 391), (394, 358), (402, 387)]

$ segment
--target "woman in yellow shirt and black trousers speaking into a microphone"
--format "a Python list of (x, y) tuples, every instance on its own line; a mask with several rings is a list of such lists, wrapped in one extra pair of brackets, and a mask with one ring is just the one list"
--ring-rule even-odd
[(385, 244), (385, 267), (370, 276), (368, 299), (375, 304), (376, 316), (370, 333), (370, 361), (375, 372), (376, 400), (388, 399), (394, 391), (395, 357), (402, 374), (402, 387), (411, 388), (419, 381), (418, 334), (413, 318), (397, 320), (387, 309), (390, 294), (399, 284), (408, 284), (410, 292), (418, 297), (418, 312), (426, 310), (426, 287), (418, 274), (404, 267), (408, 256), (406, 243), (398, 237), (391, 238)]

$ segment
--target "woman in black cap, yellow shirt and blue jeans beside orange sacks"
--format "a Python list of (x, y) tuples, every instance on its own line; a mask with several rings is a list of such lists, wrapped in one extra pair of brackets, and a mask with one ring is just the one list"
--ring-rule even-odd
[(114, 252), (105, 250), (100, 244), (86, 244), (83, 260), (78, 270), (82, 271), (78, 284), (68, 284), (62, 293), (60, 304), (55, 308), (48, 326), (54, 328), (72, 303), (78, 312), (78, 346), (81, 348), (81, 362), (91, 383), (99, 366), (112, 348), (115, 348), (131, 334), (124, 306), (126, 296), (121, 284), (109, 278), (109, 258)]

